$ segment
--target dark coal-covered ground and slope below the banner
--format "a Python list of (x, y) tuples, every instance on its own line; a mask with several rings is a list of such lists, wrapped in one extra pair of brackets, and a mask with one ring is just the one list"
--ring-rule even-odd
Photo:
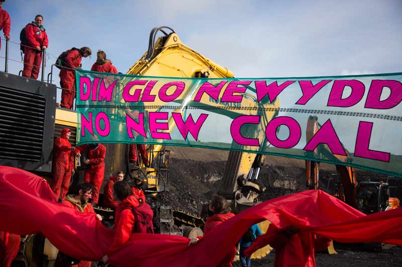
[[(158, 200), (165, 205), (198, 214), (203, 202), (218, 192), (229, 152), (220, 150), (169, 147), (170, 191), (165, 199)], [(329, 164), (320, 165), (321, 187), (327, 188), (329, 178), (336, 173)], [(364, 176), (367, 174), (358, 171)], [(260, 200), (292, 194), (306, 190), (305, 162), (303, 160), (267, 156), (260, 171), (259, 183), (266, 187)], [(337, 254), (316, 254), (317, 266), (402, 266), (402, 247), (391, 247), (382, 251), (366, 251), (336, 244)], [(254, 266), (273, 266), (274, 251), (262, 259), (254, 259)], [(234, 266), (241, 266), (234, 262)]]

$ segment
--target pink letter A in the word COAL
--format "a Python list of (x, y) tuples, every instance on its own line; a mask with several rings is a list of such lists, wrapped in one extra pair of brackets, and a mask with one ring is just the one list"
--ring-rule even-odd
[(346, 152), (343, 149), (341, 141), (339, 141), (331, 120), (327, 120), (324, 123), (303, 150), (314, 151), (319, 144), (328, 145), (332, 154), (346, 156)]

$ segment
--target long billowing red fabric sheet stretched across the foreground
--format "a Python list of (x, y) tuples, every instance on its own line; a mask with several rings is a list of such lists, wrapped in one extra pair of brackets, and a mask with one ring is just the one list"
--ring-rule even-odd
[[(100, 260), (113, 240), (113, 231), (55, 202), (46, 181), (29, 172), (0, 166), (0, 230), (17, 234), (42, 232), (66, 254)], [(320, 190), (278, 197), (249, 208), (212, 229), (196, 245), (188, 238), (133, 234), (110, 258), (113, 266), (214, 266), (253, 224), (269, 220), (279, 229), (289, 225), (341, 242), (390, 242), (402, 245), (402, 208), (371, 215), (353, 209)], [(267, 234), (257, 237), (263, 245)]]

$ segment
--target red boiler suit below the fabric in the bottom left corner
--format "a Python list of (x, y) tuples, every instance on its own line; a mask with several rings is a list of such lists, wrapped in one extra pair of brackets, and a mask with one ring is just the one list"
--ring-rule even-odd
[(20, 249), (20, 242), (20, 235), (0, 231), (0, 266), (11, 266)]

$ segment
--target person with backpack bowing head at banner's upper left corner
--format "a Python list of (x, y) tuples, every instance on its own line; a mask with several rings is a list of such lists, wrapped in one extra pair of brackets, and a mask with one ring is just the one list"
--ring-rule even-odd
[(57, 58), (56, 67), (60, 69), (60, 87), (67, 90), (61, 92), (62, 108), (71, 109), (75, 98), (75, 73), (74, 69), (80, 68), (82, 57), (86, 58), (92, 54), (88, 47), (77, 49), (73, 47), (67, 50)]

